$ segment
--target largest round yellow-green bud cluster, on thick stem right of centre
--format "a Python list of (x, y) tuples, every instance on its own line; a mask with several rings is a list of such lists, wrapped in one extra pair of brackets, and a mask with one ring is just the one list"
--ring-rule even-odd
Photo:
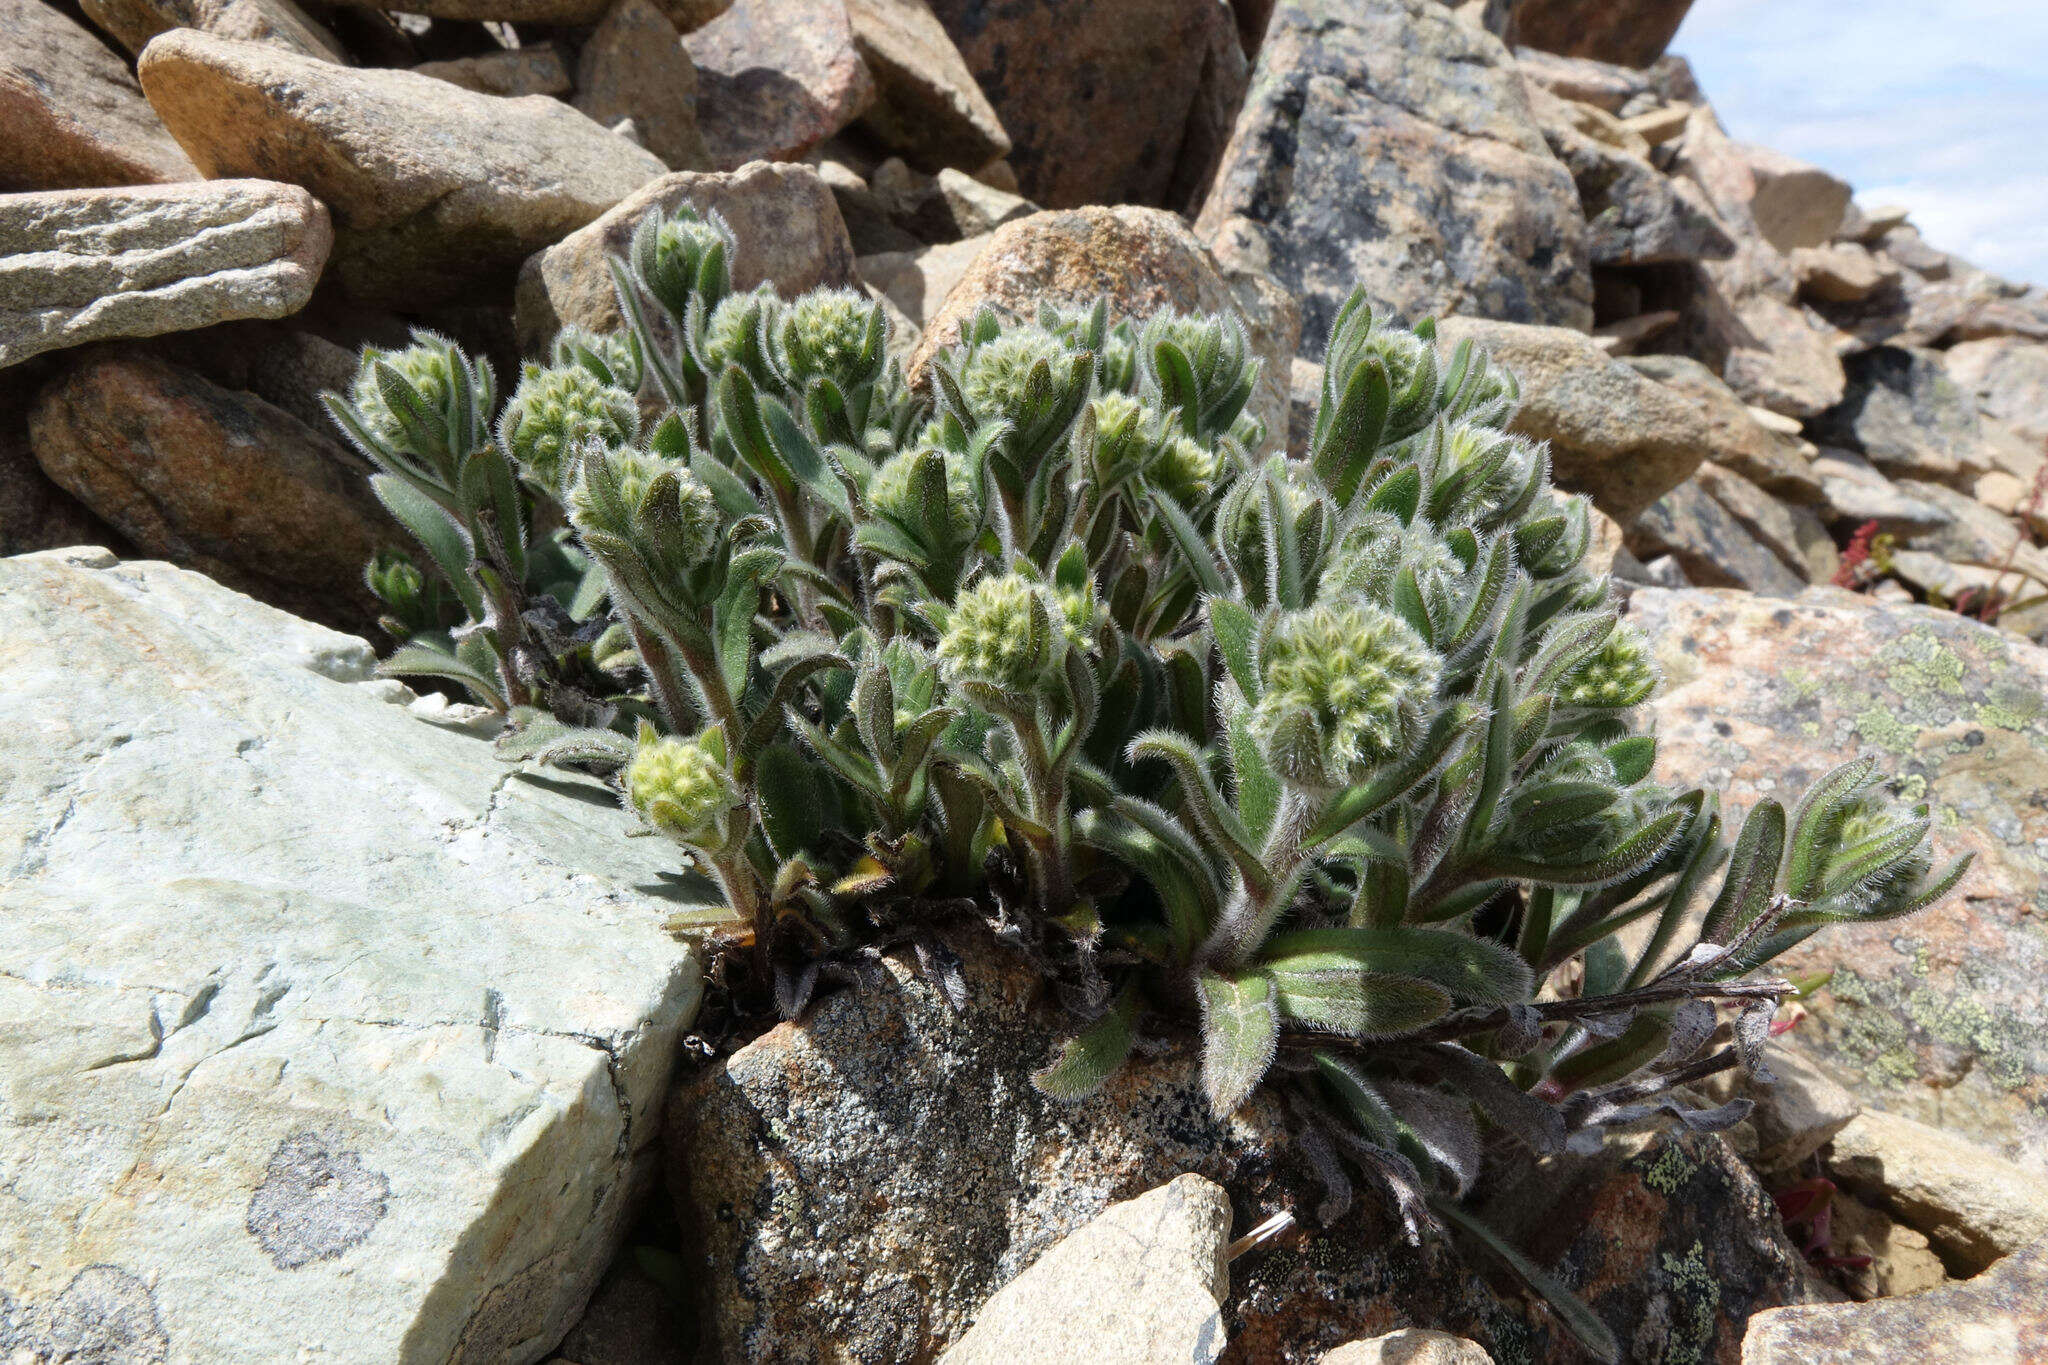
[(1405, 755), (1436, 708), (1440, 671), (1405, 620), (1368, 602), (1286, 612), (1264, 645), (1251, 733), (1290, 782), (1362, 782)]

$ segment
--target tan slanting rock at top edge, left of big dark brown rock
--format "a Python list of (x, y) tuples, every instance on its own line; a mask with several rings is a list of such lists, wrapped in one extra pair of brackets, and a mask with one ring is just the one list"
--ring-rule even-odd
[(1010, 133), (926, 0), (848, 0), (846, 16), (874, 74), (862, 127), (932, 172), (1010, 156)]

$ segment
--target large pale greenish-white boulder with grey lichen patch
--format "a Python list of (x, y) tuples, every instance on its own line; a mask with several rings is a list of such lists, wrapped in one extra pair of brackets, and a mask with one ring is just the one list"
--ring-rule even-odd
[(535, 1361), (700, 993), (674, 849), (162, 563), (0, 563), (0, 1322), (29, 1361)]

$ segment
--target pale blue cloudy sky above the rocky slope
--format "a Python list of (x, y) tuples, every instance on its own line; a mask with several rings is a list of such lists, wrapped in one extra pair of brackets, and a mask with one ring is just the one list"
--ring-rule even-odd
[(2048, 0), (1694, 0), (1671, 51), (1731, 135), (2048, 284)]

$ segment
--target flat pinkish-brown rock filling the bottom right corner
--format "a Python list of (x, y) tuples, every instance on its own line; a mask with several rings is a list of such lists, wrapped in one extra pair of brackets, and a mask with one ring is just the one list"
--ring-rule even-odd
[(2048, 1246), (2036, 1244), (1960, 1285), (1757, 1314), (1743, 1340), (1743, 1365), (2021, 1365), (2048, 1353), (2044, 1302)]

